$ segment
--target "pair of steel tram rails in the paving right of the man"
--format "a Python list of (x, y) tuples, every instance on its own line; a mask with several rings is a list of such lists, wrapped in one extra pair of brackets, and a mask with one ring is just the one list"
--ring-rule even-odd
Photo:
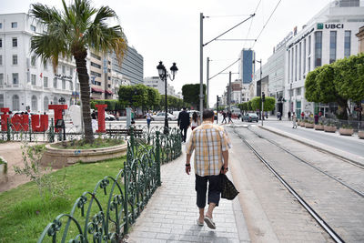
[[(320, 169), (319, 167), (315, 167), (314, 165), (310, 164), (308, 161), (306, 161), (305, 159), (303, 159), (302, 157), (298, 157), (297, 155), (293, 154), (292, 152), (288, 151), (287, 148), (285, 147), (281, 147), (280, 145), (278, 145), (276, 142), (271, 141), (270, 139), (268, 139), (267, 137), (262, 137), (261, 135), (259, 135), (258, 133), (252, 131), (251, 129), (248, 130), (252, 133), (254, 133), (256, 136), (266, 139), (269, 143), (275, 145), (276, 147), (278, 147), (279, 149), (285, 151), (289, 156), (294, 157), (296, 160), (298, 160), (301, 163), (304, 163), (305, 165), (307, 165), (308, 167), (312, 167), (315, 170), (319, 171), (319, 173), (321, 173), (322, 175), (325, 175), (325, 177), (329, 177), (333, 180), (335, 180), (336, 182), (339, 182), (340, 185), (342, 185), (343, 187), (348, 188), (350, 191), (352, 191), (353, 193), (355, 193), (356, 195), (358, 195), (359, 197), (364, 197), (364, 193), (353, 188), (350, 187), (348, 184), (346, 184), (345, 182), (341, 181), (339, 178), (334, 177), (332, 175), (329, 175), (329, 173), (323, 171), (322, 169)], [(319, 216), (319, 213), (316, 212), (309, 204), (308, 202), (305, 201), (305, 199), (303, 197), (301, 197), (298, 192), (289, 185), (288, 181), (285, 180), (283, 177), (281, 177), (278, 173), (278, 171), (272, 167), (271, 163), (265, 159), (261, 153), (258, 152), (257, 149), (255, 149), (249, 142), (248, 140), (243, 137), (241, 134), (239, 134), (236, 131), (236, 127), (233, 127), (233, 131), (234, 133), (246, 144), (246, 146), (255, 154), (256, 157), (258, 157), (258, 159), (266, 166), (268, 167), (268, 170), (273, 173), (273, 175), (275, 177), (278, 178), (279, 182), (283, 184), (284, 187), (286, 187), (288, 189), (288, 191), (298, 200), (298, 202), (302, 205), (303, 208), (305, 208), (308, 211), (308, 214), (314, 218), (318, 223), (319, 226), (321, 228), (323, 228), (328, 234), (329, 236), (335, 241), (335, 242), (345, 242), (340, 236), (339, 234), (329, 226), (329, 224)]]

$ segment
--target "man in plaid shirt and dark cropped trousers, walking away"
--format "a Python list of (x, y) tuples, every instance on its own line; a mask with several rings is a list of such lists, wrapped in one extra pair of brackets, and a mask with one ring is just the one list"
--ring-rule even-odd
[[(203, 123), (192, 131), (186, 145), (186, 173), (191, 172), (190, 159), (195, 150), (195, 189), (197, 191), (197, 207), (199, 218), (197, 225), (216, 228), (213, 221), (214, 208), (220, 200), (219, 174), (226, 174), (228, 170), (228, 149), (230, 139), (223, 127), (214, 124), (214, 111), (206, 109), (203, 112)], [(207, 213), (205, 215), (206, 193)]]

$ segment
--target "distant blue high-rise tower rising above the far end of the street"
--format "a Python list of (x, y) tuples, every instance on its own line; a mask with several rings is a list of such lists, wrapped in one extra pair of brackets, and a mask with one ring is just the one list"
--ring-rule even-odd
[(255, 52), (251, 49), (242, 49), (240, 52), (240, 60), (238, 62), (239, 79), (243, 84), (249, 84), (253, 80), (255, 72)]

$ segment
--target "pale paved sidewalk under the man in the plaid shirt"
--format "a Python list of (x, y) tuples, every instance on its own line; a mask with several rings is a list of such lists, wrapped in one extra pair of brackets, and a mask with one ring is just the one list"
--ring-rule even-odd
[(217, 229), (197, 226), (194, 168), (187, 176), (185, 162), (183, 153), (161, 167), (162, 186), (136, 219), (126, 242), (250, 242), (238, 197), (220, 199), (213, 215)]

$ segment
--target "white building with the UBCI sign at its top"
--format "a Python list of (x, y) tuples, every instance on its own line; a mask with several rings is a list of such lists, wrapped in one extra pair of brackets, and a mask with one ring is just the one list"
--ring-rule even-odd
[[(317, 66), (356, 55), (355, 35), (364, 25), (364, 6), (359, 0), (337, 0), (323, 8), (286, 45), (285, 110), (325, 113), (329, 106), (305, 99), (305, 79)], [(269, 80), (270, 81), (270, 80)]]

